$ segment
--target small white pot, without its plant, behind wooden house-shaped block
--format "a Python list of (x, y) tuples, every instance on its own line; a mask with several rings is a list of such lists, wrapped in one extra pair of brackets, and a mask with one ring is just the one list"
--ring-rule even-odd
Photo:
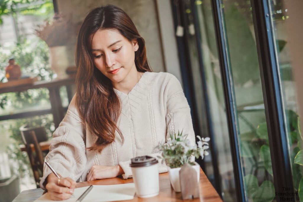
[[(195, 165), (192, 166), (195, 168), (195, 171), (197, 172), (197, 180), (200, 181), (200, 165), (195, 162)], [(168, 170), (168, 176), (169, 180), (171, 182), (172, 188), (174, 188), (175, 192), (181, 192), (180, 187), (180, 177), (179, 177), (179, 171), (181, 170), (181, 167), (178, 168), (170, 168), (167, 166)]]

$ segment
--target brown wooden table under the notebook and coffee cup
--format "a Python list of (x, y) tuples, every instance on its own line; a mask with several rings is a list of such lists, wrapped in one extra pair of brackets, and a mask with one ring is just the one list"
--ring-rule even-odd
[[(115, 177), (110, 179), (104, 180), (94, 180), (89, 182), (80, 182), (77, 183), (77, 187), (85, 187), (89, 185), (109, 185), (109, 184), (125, 184), (125, 183), (132, 183), (133, 179), (128, 178), (126, 180), (122, 179), (121, 177)], [(146, 202), (170, 202), (170, 201), (182, 201), (181, 193), (176, 193), (170, 185), (168, 173), (161, 173), (159, 174), (159, 183), (160, 183), (160, 193), (158, 196), (150, 197), (150, 198), (138, 198), (135, 195), (133, 200), (125, 200), (127, 201), (146, 201)], [(200, 182), (199, 182), (199, 190), (200, 190), (200, 198), (193, 199), (193, 200), (184, 200), (184, 201), (203, 201), (203, 202), (213, 202), (213, 201), (222, 201), (219, 197), (215, 188), (211, 185), (209, 180), (207, 179), (204, 172), (200, 169)], [(40, 189), (31, 189), (22, 191), (14, 200), (13, 202), (29, 202), (34, 201), (38, 197), (43, 194), (43, 190)]]

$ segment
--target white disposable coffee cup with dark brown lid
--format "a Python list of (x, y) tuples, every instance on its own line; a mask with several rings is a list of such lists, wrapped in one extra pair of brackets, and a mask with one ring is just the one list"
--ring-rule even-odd
[(131, 159), (130, 167), (138, 197), (148, 198), (159, 194), (158, 160), (151, 156)]

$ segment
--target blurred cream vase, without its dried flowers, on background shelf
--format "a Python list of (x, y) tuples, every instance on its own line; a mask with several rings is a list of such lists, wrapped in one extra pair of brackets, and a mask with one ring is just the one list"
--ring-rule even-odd
[(67, 77), (66, 68), (68, 68), (68, 56), (66, 46), (49, 47), (50, 64), (52, 70), (57, 74), (57, 78)]

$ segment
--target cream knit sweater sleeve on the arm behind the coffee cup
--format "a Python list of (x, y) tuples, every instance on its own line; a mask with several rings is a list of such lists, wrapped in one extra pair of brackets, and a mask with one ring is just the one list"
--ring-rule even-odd
[[(191, 144), (195, 144), (195, 133), (192, 125), (190, 108), (188, 102), (183, 93), (182, 87), (178, 79), (169, 75), (168, 83), (165, 88), (164, 97), (166, 98), (166, 142), (170, 139), (170, 135), (174, 132), (182, 131), (183, 134), (188, 134), (187, 138), (191, 140)], [(148, 154), (149, 156), (155, 157), (161, 156), (161, 152)], [(129, 164), (131, 161), (122, 161), (119, 162), (119, 165), (122, 167), (124, 174), (122, 177), (127, 179), (132, 177), (132, 170)], [(159, 161), (158, 167), (159, 173), (167, 172), (165, 162)]]

